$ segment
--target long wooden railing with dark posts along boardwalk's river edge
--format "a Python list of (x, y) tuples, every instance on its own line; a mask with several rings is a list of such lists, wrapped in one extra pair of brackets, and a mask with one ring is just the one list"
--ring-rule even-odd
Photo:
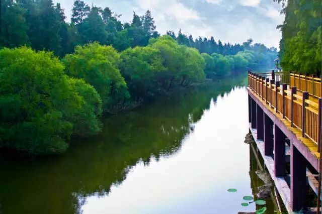
[[(265, 73), (264, 76), (262, 75), (263, 73), (249, 72), (249, 88), (256, 93), (260, 99), (269, 105), (268, 108), (282, 115), (283, 119), (291, 122), (291, 127), (296, 127), (299, 129), (302, 132), (302, 137), (311, 139), (313, 142), (318, 144), (319, 148), (322, 131), (322, 98), (319, 97), (318, 99), (310, 100), (308, 91), (303, 91), (300, 93), (301, 95), (297, 94), (297, 87), (294, 86), (288, 89), (288, 85), (286, 83), (281, 84), (280, 81), (274, 80), (274, 77), (273, 79), (270, 79), (269, 77), (265, 76)], [(287, 82), (287, 78), (284, 77), (284, 74), (280, 76), (282, 77), (282, 81)], [(294, 79), (296, 79), (295, 75), (289, 76), (291, 77), (289, 79), (290, 81), (294, 81)], [(294, 79), (292, 79), (292, 76)], [(299, 79), (300, 78), (301, 76)], [(318, 84), (315, 82), (314, 84), (317, 85), (314, 86), (317, 88)], [(307, 85), (306, 88), (308, 88)], [(318, 93), (314, 93), (314, 90), (312, 90), (312, 95), (317, 96), (316, 94)]]

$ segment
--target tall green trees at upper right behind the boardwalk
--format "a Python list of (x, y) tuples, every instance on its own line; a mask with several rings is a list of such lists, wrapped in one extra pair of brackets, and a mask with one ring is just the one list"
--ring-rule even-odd
[(320, 75), (322, 71), (322, 1), (277, 0), (285, 21), (279, 57), (284, 70)]

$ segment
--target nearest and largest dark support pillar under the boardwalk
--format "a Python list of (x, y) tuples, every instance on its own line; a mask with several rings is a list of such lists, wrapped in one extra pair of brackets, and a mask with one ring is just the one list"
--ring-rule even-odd
[(291, 142), (291, 208), (298, 211), (305, 206), (306, 162)]

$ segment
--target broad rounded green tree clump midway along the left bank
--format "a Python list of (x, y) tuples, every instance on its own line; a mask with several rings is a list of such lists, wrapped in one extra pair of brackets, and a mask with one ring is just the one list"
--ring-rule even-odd
[(169, 36), (151, 39), (147, 47), (121, 52), (119, 67), (133, 97), (149, 97), (205, 78), (198, 50), (178, 45)]

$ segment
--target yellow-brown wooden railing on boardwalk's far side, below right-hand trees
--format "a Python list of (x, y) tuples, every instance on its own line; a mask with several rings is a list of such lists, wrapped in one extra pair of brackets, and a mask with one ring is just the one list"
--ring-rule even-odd
[(290, 86), (299, 91), (307, 91), (311, 96), (322, 97), (321, 78), (290, 73)]

